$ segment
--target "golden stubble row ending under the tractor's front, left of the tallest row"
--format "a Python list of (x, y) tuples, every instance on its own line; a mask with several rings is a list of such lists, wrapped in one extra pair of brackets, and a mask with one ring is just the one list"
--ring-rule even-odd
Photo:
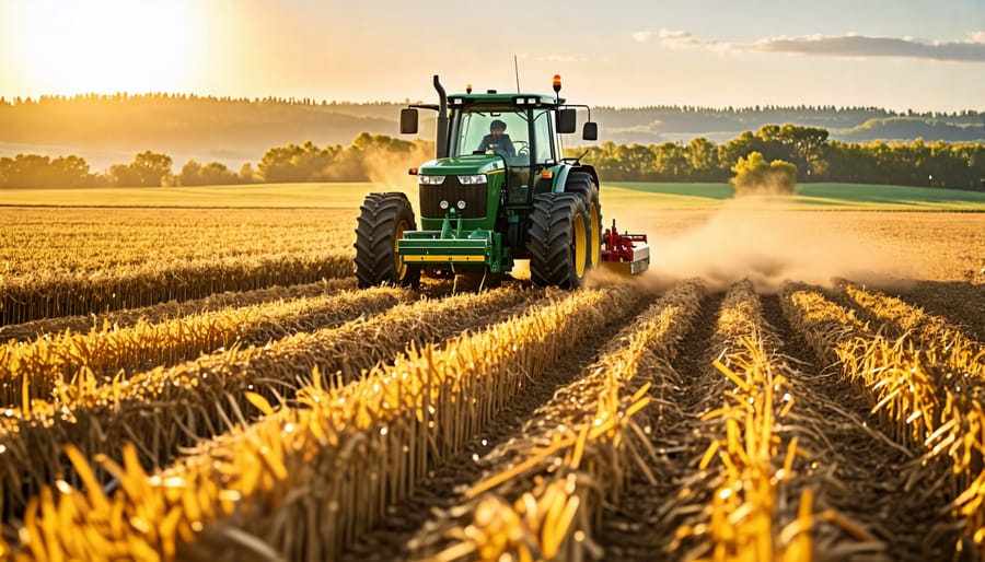
[(67, 402), (36, 402), (30, 412), (10, 409), (0, 418), (2, 511), (5, 516), (20, 513), (27, 496), (66, 472), (66, 444), (74, 444), (86, 458), (103, 453), (119, 460), (119, 444), (132, 442), (141, 466), (159, 467), (182, 447), (230, 429), (240, 421), (237, 412), (247, 418), (255, 413), (246, 391), (277, 402), (310, 382), (315, 368), (326, 385), (348, 382), (408, 342), (441, 341), (470, 326), (495, 321), (514, 306), (536, 307), (538, 294), (503, 288), (396, 305), (371, 318), (297, 333), (263, 348), (155, 367), (82, 389), (66, 396)]

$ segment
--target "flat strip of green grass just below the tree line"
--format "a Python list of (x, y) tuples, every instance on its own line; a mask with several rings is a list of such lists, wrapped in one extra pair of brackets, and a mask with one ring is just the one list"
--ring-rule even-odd
[[(2, 189), (2, 206), (55, 207), (321, 207), (357, 208), (366, 194), (413, 190), (375, 184), (263, 184), (221, 187)], [(711, 210), (732, 200), (728, 184), (611, 183), (610, 209)], [(801, 184), (791, 197), (757, 199), (790, 210), (985, 212), (985, 192), (861, 184)], [(751, 204), (755, 206), (755, 202)]]

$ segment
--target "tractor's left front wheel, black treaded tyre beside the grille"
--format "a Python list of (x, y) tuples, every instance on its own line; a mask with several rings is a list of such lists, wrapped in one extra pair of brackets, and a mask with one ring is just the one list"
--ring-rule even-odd
[(380, 284), (416, 286), (420, 268), (403, 264), (397, 242), (417, 230), (414, 208), (404, 194), (370, 194), (356, 225), (356, 278), (360, 288)]

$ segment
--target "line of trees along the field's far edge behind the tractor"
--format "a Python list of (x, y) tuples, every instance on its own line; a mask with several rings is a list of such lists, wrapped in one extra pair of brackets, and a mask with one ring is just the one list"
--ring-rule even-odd
[[(847, 143), (828, 139), (819, 127), (767, 125), (757, 131), (716, 143), (696, 138), (687, 143), (615, 144), (571, 149), (607, 182), (728, 182), (733, 167), (750, 154), (788, 162), (797, 180), (887, 184), (985, 189), (985, 143), (943, 141)], [(348, 147), (320, 147), (308, 141), (268, 149), (256, 165), (239, 171), (219, 162), (190, 160), (174, 171), (166, 154), (146, 151), (129, 164), (102, 173), (70, 155), (20, 154), (0, 159), (0, 187), (160, 187), (251, 183), (369, 182), (383, 168), (403, 169), (433, 154), (433, 143), (405, 141), (362, 132)]]

